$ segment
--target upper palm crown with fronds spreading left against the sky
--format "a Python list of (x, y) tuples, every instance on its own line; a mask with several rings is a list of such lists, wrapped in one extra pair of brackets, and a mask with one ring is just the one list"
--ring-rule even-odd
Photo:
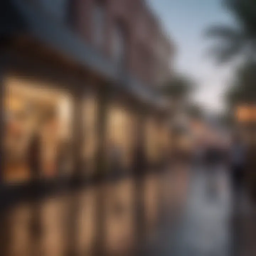
[(234, 57), (256, 61), (256, 1), (223, 0), (223, 4), (236, 23), (208, 28), (206, 36), (218, 39), (210, 52), (220, 63)]

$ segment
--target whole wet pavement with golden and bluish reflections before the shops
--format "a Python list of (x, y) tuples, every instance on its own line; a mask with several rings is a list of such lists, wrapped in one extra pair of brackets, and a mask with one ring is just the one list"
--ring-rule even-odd
[[(204, 168), (185, 166), (149, 174), (140, 192), (140, 239), (138, 190), (133, 178), (125, 178), (9, 209), (1, 216), (1, 255), (94, 255), (95, 246), (102, 247), (101, 255), (135, 255), (138, 247), (136, 254), (149, 256), (235, 255), (232, 195), (223, 167), (210, 176)], [(255, 216), (246, 209), (236, 254), (242, 256), (256, 255)]]

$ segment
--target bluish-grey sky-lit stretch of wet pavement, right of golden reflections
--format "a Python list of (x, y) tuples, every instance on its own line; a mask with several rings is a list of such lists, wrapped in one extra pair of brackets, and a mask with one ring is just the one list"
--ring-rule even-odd
[(191, 172), (185, 210), (179, 222), (164, 223), (158, 240), (145, 255), (228, 256), (230, 253), (230, 186), (221, 168), (211, 178), (205, 170)]

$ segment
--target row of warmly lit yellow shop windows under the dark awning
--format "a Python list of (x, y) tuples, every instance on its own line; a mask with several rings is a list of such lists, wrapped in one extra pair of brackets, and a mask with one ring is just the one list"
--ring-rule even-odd
[[(55, 179), (72, 176), (74, 169), (74, 97), (64, 89), (39, 79), (6, 76), (4, 79), (4, 170), (7, 183), (28, 182), (35, 177)], [(60, 87), (61, 88), (61, 87)], [(80, 103), (79, 103), (80, 104)], [(98, 150), (99, 100), (96, 92), (81, 95), (81, 170), (95, 175)], [(75, 115), (77, 116), (77, 115)], [(125, 104), (109, 102), (106, 106), (105, 156), (112, 168), (114, 151), (119, 167), (132, 170), (138, 134), (143, 134), (146, 159), (158, 164), (169, 148), (169, 130), (154, 116), (143, 121), (138, 131), (138, 113)], [(121, 171), (121, 170), (120, 170)]]

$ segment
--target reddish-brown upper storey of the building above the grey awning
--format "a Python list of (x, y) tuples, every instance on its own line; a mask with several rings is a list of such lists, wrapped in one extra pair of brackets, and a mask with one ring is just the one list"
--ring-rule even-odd
[(77, 0), (74, 4), (73, 26), (85, 42), (148, 86), (170, 75), (173, 45), (145, 1)]

